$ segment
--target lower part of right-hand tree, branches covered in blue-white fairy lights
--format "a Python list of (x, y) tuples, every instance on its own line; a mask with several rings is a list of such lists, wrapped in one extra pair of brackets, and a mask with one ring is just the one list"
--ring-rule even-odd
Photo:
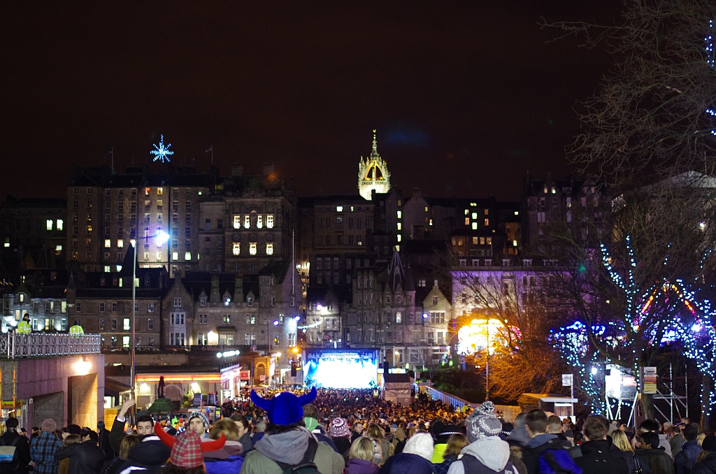
[[(707, 290), (702, 276), (692, 278), (693, 284), (672, 279), (667, 255), (662, 274), (656, 278), (652, 269), (637, 261), (629, 236), (624, 240), (624, 250), (626, 261), (616, 259), (605, 245), (601, 246), (599, 266), (588, 263), (589, 270), (583, 272), (583, 280), (589, 283), (583, 282), (581, 288), (591, 286), (593, 290), (589, 300), (575, 298), (579, 316), (573, 324), (553, 329), (551, 342), (576, 369), (580, 389), (591, 409), (599, 413), (605, 412), (609, 403), (602, 391), (601, 371), (606, 364), (624, 367), (638, 382), (639, 369), (657, 365), (659, 356), (667, 350), (665, 346), (683, 344), (684, 354), (695, 361), (703, 375), (703, 410), (708, 415), (716, 402), (716, 395), (709, 395), (716, 375), (716, 332), (712, 327), (716, 315), (703, 296)], [(702, 257), (702, 263), (708, 256), (710, 252)], [(642, 402), (651, 413), (651, 397), (642, 395)]]

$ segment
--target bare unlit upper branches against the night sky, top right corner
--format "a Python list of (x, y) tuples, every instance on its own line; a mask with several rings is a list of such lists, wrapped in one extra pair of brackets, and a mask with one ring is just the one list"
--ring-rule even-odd
[(556, 22), (614, 57), (582, 104), (570, 158), (621, 193), (654, 178), (715, 166), (716, 6), (703, 0), (624, 0), (616, 26)]

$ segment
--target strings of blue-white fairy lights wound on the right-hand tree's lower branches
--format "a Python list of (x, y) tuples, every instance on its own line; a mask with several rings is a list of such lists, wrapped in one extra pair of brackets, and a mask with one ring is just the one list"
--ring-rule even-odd
[[(616, 287), (624, 292), (624, 301), (627, 305), (624, 308), (624, 318), (610, 321), (607, 327), (594, 325), (588, 327), (581, 321), (553, 329), (551, 331), (551, 343), (563, 359), (576, 369), (579, 375), (581, 389), (589, 397), (589, 404), (594, 413), (604, 412), (603, 402), (599, 390), (599, 379), (596, 376), (596, 367), (599, 367), (597, 347), (590, 342), (590, 335), (596, 339), (602, 347), (614, 348), (619, 345), (621, 349), (631, 349), (633, 356), (632, 370), (634, 378), (639, 383), (639, 351), (637, 340), (634, 334), (639, 334), (641, 329), (643, 337), (647, 338), (647, 346), (654, 344), (672, 344), (680, 342), (684, 347), (684, 355), (694, 360), (699, 372), (716, 380), (716, 329), (713, 327), (713, 319), (716, 317), (716, 310), (712, 308), (709, 299), (701, 298), (700, 287), (693, 288), (682, 279), (662, 281), (652, 284), (646, 291), (642, 291), (636, 283), (634, 271), (637, 269), (637, 261), (634, 258), (631, 238), (627, 236), (627, 258), (629, 259), (625, 268), (626, 275), (622, 275), (612, 265), (612, 257), (604, 244), (601, 245), (601, 263), (609, 274), (609, 278)], [(705, 259), (711, 253), (706, 251), (701, 259), (703, 270)], [(664, 264), (668, 256), (664, 258)], [(698, 279), (697, 279), (698, 280)], [(676, 299), (674, 300), (674, 296)], [(649, 311), (661, 311), (659, 317), (647, 320)], [(687, 311), (684, 311), (686, 309)], [(643, 327), (648, 323), (648, 327)], [(630, 329), (628, 331), (627, 329)], [(630, 334), (631, 336), (630, 336)], [(601, 362), (611, 364), (615, 361), (606, 360)], [(618, 361), (617, 361), (618, 362)], [(624, 364), (624, 361), (621, 361)], [(591, 368), (590, 368), (591, 367)], [(713, 383), (713, 382), (712, 382)], [(702, 400), (705, 400), (703, 410), (709, 415), (712, 407), (716, 405), (716, 390), (707, 387), (702, 383)], [(627, 403), (628, 405), (628, 403)]]

